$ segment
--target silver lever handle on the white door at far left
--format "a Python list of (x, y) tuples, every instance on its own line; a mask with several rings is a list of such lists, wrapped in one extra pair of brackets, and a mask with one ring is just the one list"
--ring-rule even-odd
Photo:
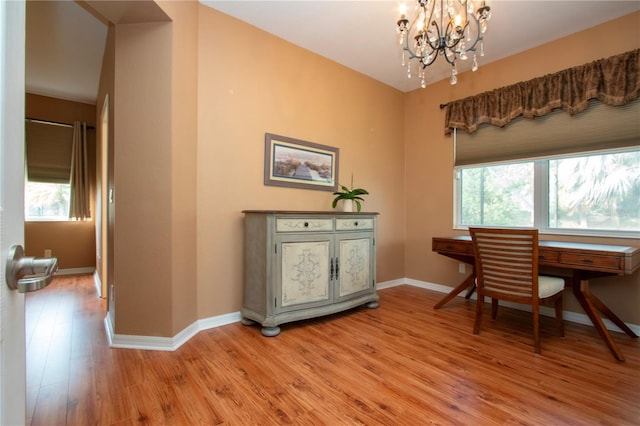
[(11, 246), (7, 257), (7, 285), (20, 293), (36, 291), (51, 283), (53, 273), (58, 270), (55, 257), (36, 259), (26, 257), (20, 245)]

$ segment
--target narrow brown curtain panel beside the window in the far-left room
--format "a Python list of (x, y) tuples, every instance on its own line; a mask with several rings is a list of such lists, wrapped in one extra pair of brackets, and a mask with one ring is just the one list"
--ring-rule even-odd
[(73, 123), (73, 145), (71, 152), (69, 219), (84, 220), (91, 217), (89, 187), (87, 123), (75, 121)]

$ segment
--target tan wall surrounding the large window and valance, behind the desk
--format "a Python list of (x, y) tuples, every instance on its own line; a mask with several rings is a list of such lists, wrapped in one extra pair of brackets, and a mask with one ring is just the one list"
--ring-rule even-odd
[[(487, 36), (486, 47), (491, 48)], [(407, 200), (406, 277), (454, 286), (464, 277), (457, 262), (431, 252), (431, 238), (454, 235), (453, 147), (444, 136), (444, 110), (439, 104), (640, 47), (640, 14), (594, 27), (518, 55), (481, 64), (476, 73), (459, 75), (458, 84), (442, 81), (406, 96)], [(432, 117), (425, 126), (424, 117)], [(548, 239), (548, 238), (547, 238)], [(553, 239), (640, 246), (638, 239)], [(631, 276), (601, 278), (592, 289), (624, 321), (640, 324), (640, 271)], [(582, 313), (572, 295), (567, 309)]]

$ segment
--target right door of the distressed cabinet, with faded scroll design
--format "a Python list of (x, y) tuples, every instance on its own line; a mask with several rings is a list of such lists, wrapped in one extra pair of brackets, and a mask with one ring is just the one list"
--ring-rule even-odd
[(373, 289), (373, 233), (338, 239), (338, 298)]

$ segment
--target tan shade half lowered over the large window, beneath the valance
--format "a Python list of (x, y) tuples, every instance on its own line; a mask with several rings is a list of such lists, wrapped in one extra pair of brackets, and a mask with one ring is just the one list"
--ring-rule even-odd
[(559, 109), (542, 117), (518, 117), (505, 127), (456, 131), (456, 166), (533, 159), (640, 146), (640, 100), (610, 106), (591, 100), (581, 113)]

